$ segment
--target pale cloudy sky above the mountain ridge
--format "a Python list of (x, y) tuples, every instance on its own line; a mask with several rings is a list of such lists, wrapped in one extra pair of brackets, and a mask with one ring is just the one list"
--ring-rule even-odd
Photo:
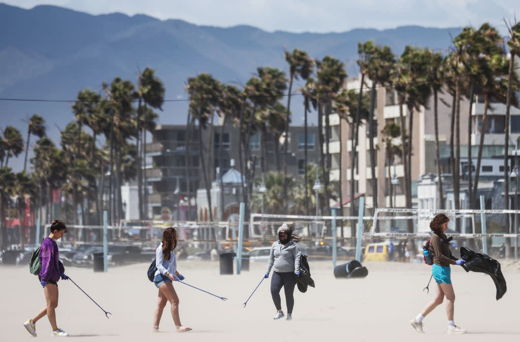
[[(122, 12), (230, 27), (248, 24), (266, 31), (343, 32), (401, 25), (454, 27), (490, 22), (504, 31), (503, 18), (520, 17), (518, 0), (16, 0), (23, 8), (51, 4), (90, 14)], [(319, 5), (318, 5), (319, 3)]]

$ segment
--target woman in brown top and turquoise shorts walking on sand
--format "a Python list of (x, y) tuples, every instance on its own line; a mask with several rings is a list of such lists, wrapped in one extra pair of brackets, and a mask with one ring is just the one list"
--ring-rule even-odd
[(445, 214), (437, 214), (430, 222), (430, 228), (433, 234), (430, 238), (430, 254), (433, 257), (432, 274), (437, 283), (437, 295), (426, 305), (416, 318), (410, 321), (415, 330), (424, 333), (422, 321), (424, 317), (439, 304), (442, 304), (446, 297), (446, 314), (448, 316), (448, 334), (464, 334), (466, 331), (461, 329), (453, 321), (453, 304), (455, 301), (455, 293), (451, 285), (450, 265), (462, 265), (465, 260), (456, 259), (451, 255), (448, 238), (444, 233), (448, 229), (449, 218)]

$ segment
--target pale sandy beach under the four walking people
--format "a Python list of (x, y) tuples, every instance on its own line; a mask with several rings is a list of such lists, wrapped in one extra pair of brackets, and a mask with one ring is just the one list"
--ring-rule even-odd
[[(424, 321), (426, 334), (413, 330), (409, 321), (432, 300), (423, 292), (431, 268), (424, 264), (367, 262), (365, 279), (335, 279), (332, 261), (310, 261), (316, 288), (307, 293), (295, 290), (293, 320), (272, 320), (275, 307), (269, 291), (270, 279), (264, 280), (243, 308), (262, 279), (266, 265), (251, 263), (240, 275), (219, 275), (218, 262), (180, 260), (178, 270), (191, 285), (203, 288), (220, 300), (184, 284), (176, 284), (180, 298), (180, 318), (193, 331), (177, 334), (169, 304), (161, 320), (165, 334), (152, 334), (151, 321), (157, 288), (146, 278), (146, 264), (113, 267), (106, 273), (68, 267), (66, 273), (98, 304), (113, 315), (110, 319), (73, 283), (59, 282), (58, 327), (76, 341), (437, 341), (446, 335), (444, 304)], [(451, 336), (466, 341), (518, 341), (517, 307), (520, 302), (520, 264), (502, 262), (508, 292), (495, 299), (495, 284), (485, 274), (466, 273), (452, 267), (456, 293), (455, 322), (467, 334)], [(22, 323), (45, 304), (43, 290), (28, 267), (0, 267), (2, 313), (0, 327), (3, 341), (29, 340), (33, 337)], [(285, 311), (282, 291), (282, 309)], [(36, 324), (37, 339), (49, 339), (47, 318)]]

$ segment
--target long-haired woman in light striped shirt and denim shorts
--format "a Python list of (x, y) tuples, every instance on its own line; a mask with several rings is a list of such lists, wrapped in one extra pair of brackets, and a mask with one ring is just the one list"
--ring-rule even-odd
[(182, 274), (177, 271), (177, 259), (175, 258), (174, 249), (177, 247), (177, 232), (175, 228), (168, 227), (163, 232), (163, 239), (159, 247), (155, 249), (155, 277), (153, 283), (159, 288), (157, 306), (153, 312), (153, 328), (154, 333), (163, 333), (159, 329), (159, 322), (166, 306), (166, 302), (171, 304), (171, 313), (175, 327), (178, 333), (190, 331), (191, 328), (180, 324), (179, 318), (179, 297), (173, 287), (173, 282), (184, 280)]

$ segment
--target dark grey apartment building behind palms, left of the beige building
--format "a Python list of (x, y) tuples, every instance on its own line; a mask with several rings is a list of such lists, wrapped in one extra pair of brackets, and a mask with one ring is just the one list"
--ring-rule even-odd
[[(210, 185), (217, 180), (219, 175), (225, 175), (231, 168), (231, 160), (235, 161), (235, 169), (240, 168), (239, 161), (239, 130), (231, 124), (224, 126), (213, 126), (210, 129), (202, 130), (203, 157), (207, 172), (207, 181)], [(220, 146), (220, 135), (222, 134), (222, 146)], [(308, 126), (307, 149), (308, 162), (313, 163), (318, 160), (318, 140), (317, 126)], [(149, 212), (152, 217), (159, 217), (163, 208), (168, 208), (171, 212), (177, 212), (180, 220), (198, 219), (201, 212), (200, 205), (197, 207), (195, 198), (197, 190), (205, 189), (205, 182), (200, 163), (199, 149), (199, 130), (193, 130), (189, 154), (187, 153), (187, 137), (185, 125), (158, 125), (152, 133), (153, 140), (147, 144), (146, 153), (151, 158), (152, 164), (147, 167), (145, 174), (146, 180), (151, 185), (152, 193), (147, 196)], [(278, 137), (268, 136), (266, 141), (267, 160), (265, 170), (283, 171), (283, 146), (277, 143)], [(305, 135), (303, 126), (291, 126), (287, 139), (288, 146), (288, 173), (294, 178), (303, 178), (305, 170)], [(254, 178), (261, 177), (261, 144), (262, 135), (256, 133), (250, 138), (249, 152), (250, 160), (244, 167), (249, 167)], [(190, 161), (188, 172), (186, 163)], [(221, 163), (222, 162), (222, 163)], [(222, 169), (219, 167), (222, 165)], [(218, 173), (217, 173), (218, 169)], [(188, 175), (188, 176), (187, 176)], [(190, 184), (192, 194), (191, 206), (188, 206), (187, 184)], [(213, 204), (213, 203), (212, 203)], [(212, 205), (213, 206), (213, 205)], [(209, 211), (209, 208), (202, 208), (202, 212)], [(191, 212), (191, 216), (189, 216)], [(216, 208), (213, 208), (216, 213)], [(220, 213), (220, 211), (218, 211)], [(222, 214), (223, 215), (223, 214)], [(222, 216), (221, 215), (221, 216)], [(173, 215), (175, 216), (175, 215)], [(222, 217), (215, 217), (222, 219)]]

